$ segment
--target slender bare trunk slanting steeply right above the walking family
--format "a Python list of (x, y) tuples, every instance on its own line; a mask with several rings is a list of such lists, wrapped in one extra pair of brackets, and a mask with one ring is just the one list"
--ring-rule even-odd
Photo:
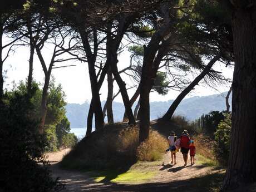
[(170, 108), (168, 109), (168, 111), (166, 112), (166, 114), (162, 117), (163, 120), (170, 120), (171, 117), (173, 116), (175, 110), (177, 109), (177, 107), (179, 106), (180, 102), (184, 99), (184, 97), (186, 95), (188, 95), (188, 93), (193, 90), (193, 88), (198, 85), (198, 83), (210, 72), (211, 67), (214, 65), (214, 63), (216, 61), (219, 60), (221, 56), (221, 53), (218, 53), (218, 55), (216, 55), (209, 63), (208, 65), (206, 65), (206, 67), (204, 68), (204, 70), (200, 73), (199, 76), (197, 76), (194, 81), (192, 81), (190, 83), (190, 85), (188, 87), (186, 87), (180, 94), (179, 96), (174, 100), (173, 104), (171, 104)]

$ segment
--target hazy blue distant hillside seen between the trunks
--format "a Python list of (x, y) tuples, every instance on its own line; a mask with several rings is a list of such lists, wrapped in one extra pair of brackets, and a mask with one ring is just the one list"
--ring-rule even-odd
[[(227, 92), (224, 92), (223, 95), (227, 95)], [(173, 101), (174, 100), (150, 102), (150, 119), (154, 120), (163, 116)], [(102, 102), (102, 106), (104, 103), (105, 101)], [(67, 104), (67, 117), (71, 122), (72, 128), (86, 127), (89, 107), (90, 103), (87, 101), (82, 105)], [(195, 120), (202, 114), (208, 114), (208, 112), (216, 110), (222, 111), (225, 110), (225, 108), (225, 98), (220, 94), (203, 97), (195, 96), (184, 99), (176, 110), (175, 115), (183, 115), (188, 120)], [(122, 121), (122, 116), (125, 111), (124, 105), (120, 102), (113, 102), (113, 111), (114, 120), (116, 122)]]

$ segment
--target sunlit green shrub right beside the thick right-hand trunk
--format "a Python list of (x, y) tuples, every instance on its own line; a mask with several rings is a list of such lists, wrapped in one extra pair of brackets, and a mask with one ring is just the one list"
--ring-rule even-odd
[(225, 119), (220, 121), (214, 133), (216, 141), (215, 154), (220, 164), (227, 165), (231, 141), (231, 114), (226, 113), (224, 116)]

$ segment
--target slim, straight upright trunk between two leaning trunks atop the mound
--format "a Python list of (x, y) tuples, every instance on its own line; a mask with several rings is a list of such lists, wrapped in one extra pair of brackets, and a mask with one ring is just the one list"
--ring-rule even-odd
[(106, 109), (107, 109), (107, 122), (109, 124), (114, 124), (113, 110), (112, 110), (112, 101), (113, 101), (113, 76), (111, 67), (107, 72), (107, 101), (106, 101)]

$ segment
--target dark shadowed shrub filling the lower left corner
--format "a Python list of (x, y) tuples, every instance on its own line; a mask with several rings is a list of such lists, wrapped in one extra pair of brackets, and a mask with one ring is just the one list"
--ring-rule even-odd
[[(33, 87), (33, 93), (37, 90)], [(43, 159), (46, 137), (38, 134), (39, 121), (33, 111), (31, 95), (7, 92), (0, 101), (0, 191), (59, 190)]]

